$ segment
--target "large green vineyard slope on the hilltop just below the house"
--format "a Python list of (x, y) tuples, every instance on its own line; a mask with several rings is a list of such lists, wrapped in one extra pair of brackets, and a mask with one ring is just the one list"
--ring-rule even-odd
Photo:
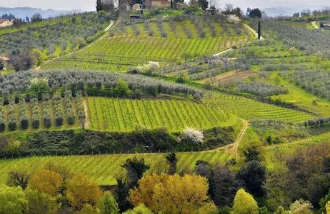
[[(114, 29), (112, 36), (105, 36), (86, 49), (57, 58), (43, 68), (127, 71), (149, 61), (164, 65), (216, 54), (253, 38), (242, 25), (214, 22), (213, 31), (209, 26), (203, 25), (203, 36), (191, 21), (176, 21), (174, 26), (173, 29), (169, 21), (164, 21), (160, 29), (156, 22), (150, 22), (150, 31), (154, 32), (151, 36), (144, 24), (121, 26)], [(139, 31), (139, 34), (134, 34), (135, 31)], [(190, 36), (187, 36), (187, 31)]]

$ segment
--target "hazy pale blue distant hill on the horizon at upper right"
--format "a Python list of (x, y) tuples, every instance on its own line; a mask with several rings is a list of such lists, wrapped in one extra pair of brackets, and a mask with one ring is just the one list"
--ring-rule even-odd
[(321, 10), (326, 8), (326, 6), (319, 5), (308, 5), (308, 6), (274, 6), (261, 9), (266, 12), (267, 16), (276, 17), (276, 16), (292, 16), (294, 13), (298, 13), (309, 9), (310, 11)]

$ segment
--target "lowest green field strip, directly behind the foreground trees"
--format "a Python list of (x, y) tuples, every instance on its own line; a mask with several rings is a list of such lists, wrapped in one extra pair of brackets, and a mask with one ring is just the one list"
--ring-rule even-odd
[[(151, 165), (148, 173), (156, 173), (166, 169), (164, 154), (116, 154), (99, 156), (57, 156), (57, 157), (31, 157), (0, 161), (0, 183), (6, 183), (9, 170), (36, 171), (50, 161), (66, 166), (74, 173), (82, 173), (99, 185), (115, 185), (116, 177), (124, 173), (121, 168), (127, 158), (144, 158)], [(231, 159), (229, 154), (221, 151), (201, 153), (178, 153), (178, 172), (192, 170), (196, 161), (204, 160), (209, 163), (221, 163)]]

